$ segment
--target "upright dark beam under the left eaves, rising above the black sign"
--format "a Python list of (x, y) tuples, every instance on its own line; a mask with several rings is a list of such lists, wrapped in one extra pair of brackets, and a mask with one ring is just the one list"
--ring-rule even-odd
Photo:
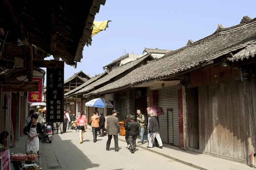
[(58, 54), (58, 49), (57, 49), (57, 23), (58, 23), (58, 17), (56, 15), (56, 5), (55, 1), (53, 1), (53, 6), (51, 8), (51, 27), (50, 27), (50, 50), (52, 52), (53, 58), (55, 61), (60, 60), (60, 56)]

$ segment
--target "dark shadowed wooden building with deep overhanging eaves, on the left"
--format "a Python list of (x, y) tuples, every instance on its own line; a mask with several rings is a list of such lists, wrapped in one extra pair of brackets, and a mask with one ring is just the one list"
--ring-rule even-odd
[[(64, 62), (76, 67), (101, 4), (105, 0), (0, 0), (0, 107), (6, 106), (0, 132), (19, 140), (29, 110), (26, 92), (38, 91), (35, 70), (64, 68)], [(44, 60), (50, 55), (55, 60)]]

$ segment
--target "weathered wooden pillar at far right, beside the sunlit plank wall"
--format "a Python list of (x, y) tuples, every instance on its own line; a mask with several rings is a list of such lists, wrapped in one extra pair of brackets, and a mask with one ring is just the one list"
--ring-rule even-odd
[[(249, 82), (249, 72), (246, 69), (242, 69), (242, 109), (245, 114), (245, 128), (246, 128), (246, 138), (247, 138), (247, 164), (250, 166), (250, 152), (253, 150), (253, 154), (256, 153), (256, 137), (255, 137), (255, 126), (254, 126), (254, 114), (253, 114), (253, 97), (252, 97), (252, 87)], [(243, 114), (243, 113), (242, 113)], [(254, 160), (254, 158), (253, 158)]]

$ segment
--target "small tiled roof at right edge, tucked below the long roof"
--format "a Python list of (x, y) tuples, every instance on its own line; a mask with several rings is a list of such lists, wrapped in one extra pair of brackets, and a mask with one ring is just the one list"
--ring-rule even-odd
[(249, 59), (250, 57), (255, 57), (256, 56), (256, 43), (247, 46), (245, 49), (242, 49), (240, 52), (236, 53), (233, 55), (231, 58), (232, 62), (235, 61), (244, 61), (245, 58)]

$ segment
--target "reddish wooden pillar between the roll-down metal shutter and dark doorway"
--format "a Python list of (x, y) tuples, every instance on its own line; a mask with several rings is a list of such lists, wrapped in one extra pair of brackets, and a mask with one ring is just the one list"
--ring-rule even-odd
[(180, 149), (184, 148), (184, 131), (183, 131), (183, 94), (182, 84), (178, 85), (178, 115), (179, 115), (179, 138), (180, 138)]

